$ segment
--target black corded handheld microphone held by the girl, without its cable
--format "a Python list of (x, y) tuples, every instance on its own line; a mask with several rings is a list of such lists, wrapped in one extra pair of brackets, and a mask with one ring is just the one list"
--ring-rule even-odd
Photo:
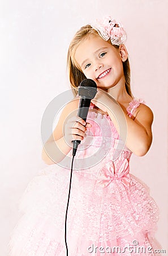
[[(97, 85), (92, 79), (85, 79), (81, 81), (78, 89), (78, 94), (80, 97), (79, 108), (77, 115), (82, 118), (85, 122), (87, 120), (87, 115), (89, 111), (89, 106), (91, 105), (91, 100), (95, 97), (97, 93)], [(73, 152), (72, 155), (76, 155), (77, 146), (80, 144), (80, 140), (72, 141)]]

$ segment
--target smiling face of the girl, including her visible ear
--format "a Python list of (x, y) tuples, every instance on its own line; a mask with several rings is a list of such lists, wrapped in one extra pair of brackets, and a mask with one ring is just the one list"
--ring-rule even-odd
[(117, 84), (124, 85), (122, 58), (126, 60), (127, 57), (126, 47), (122, 45), (117, 49), (96, 35), (84, 39), (75, 51), (81, 71), (104, 90)]

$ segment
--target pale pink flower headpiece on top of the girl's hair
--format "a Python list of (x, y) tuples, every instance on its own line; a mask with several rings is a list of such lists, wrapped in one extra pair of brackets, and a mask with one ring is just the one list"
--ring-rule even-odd
[(120, 44), (123, 44), (127, 39), (127, 34), (122, 24), (111, 18), (111, 16), (107, 16), (101, 20), (97, 19), (96, 22), (90, 25), (98, 32), (102, 39), (105, 41), (110, 39), (111, 44), (120, 46)]

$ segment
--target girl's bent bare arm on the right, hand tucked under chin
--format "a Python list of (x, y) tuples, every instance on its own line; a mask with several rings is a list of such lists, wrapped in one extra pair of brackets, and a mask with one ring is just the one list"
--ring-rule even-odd
[[(96, 99), (97, 98), (97, 99)], [(113, 113), (119, 113), (117, 110), (117, 104), (111, 100), (111, 97), (107, 93), (99, 92), (94, 98), (94, 101), (99, 101), (100, 103), (105, 102), (105, 105), (100, 104), (100, 108), (107, 112), (111, 118), (111, 121), (114, 123), (115, 128), (119, 133), (119, 127), (117, 119)], [(94, 103), (94, 102), (93, 102)], [(96, 104), (98, 106), (98, 104)], [(150, 108), (144, 104), (140, 104), (139, 108), (136, 110), (135, 119), (128, 117), (127, 110), (123, 105), (119, 104), (123, 110), (122, 122), (127, 123), (127, 140), (126, 146), (138, 156), (143, 156), (147, 154), (150, 145), (152, 143), (152, 122), (153, 122), (153, 113)], [(125, 120), (124, 120), (125, 118)]]

